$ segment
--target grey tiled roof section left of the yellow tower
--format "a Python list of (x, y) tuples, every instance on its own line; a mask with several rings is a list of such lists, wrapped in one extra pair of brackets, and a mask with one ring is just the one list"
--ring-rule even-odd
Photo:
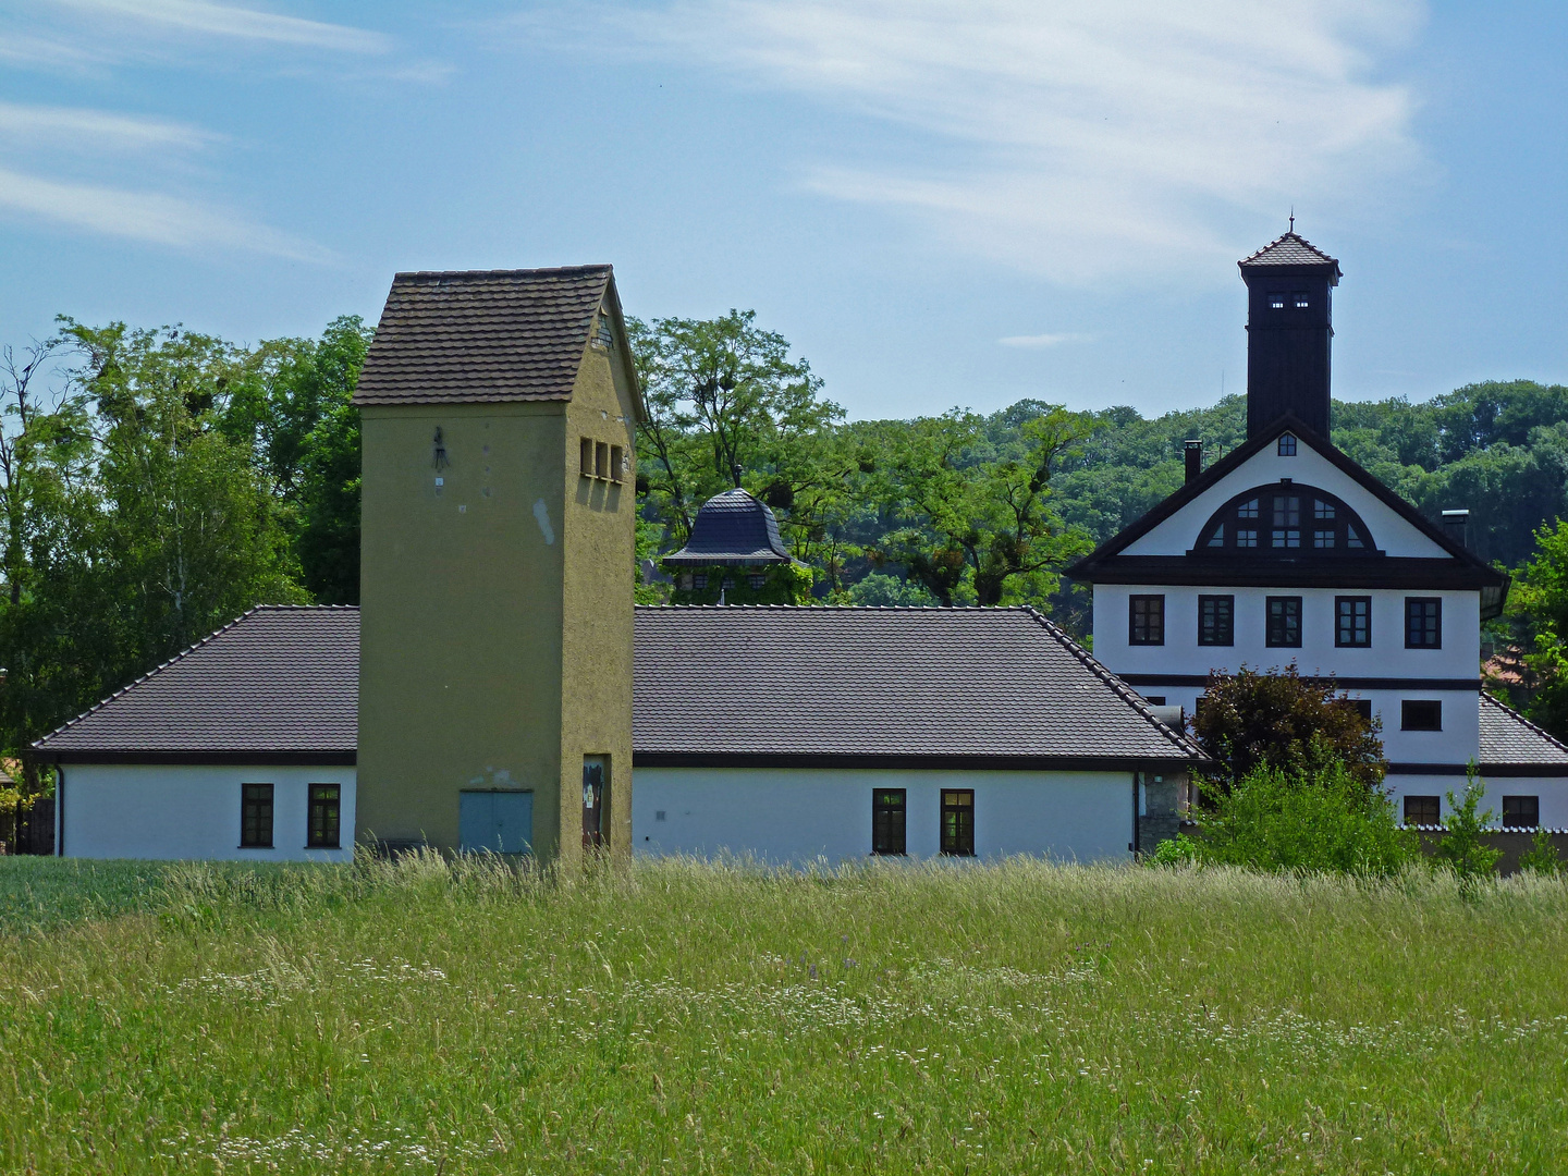
[(263, 605), (33, 746), (49, 762), (354, 762), (359, 610)]

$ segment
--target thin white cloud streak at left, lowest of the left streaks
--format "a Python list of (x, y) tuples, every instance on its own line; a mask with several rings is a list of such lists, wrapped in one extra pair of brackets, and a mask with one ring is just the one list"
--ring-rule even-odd
[(310, 241), (196, 201), (0, 169), (0, 209), (72, 229), (185, 249), (220, 248), (326, 263)]

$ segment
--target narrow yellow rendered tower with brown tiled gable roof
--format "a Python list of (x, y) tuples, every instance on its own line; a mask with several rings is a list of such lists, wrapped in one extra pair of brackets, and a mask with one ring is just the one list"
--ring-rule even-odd
[(398, 274), (354, 403), (358, 836), (629, 851), (641, 398), (610, 267)]

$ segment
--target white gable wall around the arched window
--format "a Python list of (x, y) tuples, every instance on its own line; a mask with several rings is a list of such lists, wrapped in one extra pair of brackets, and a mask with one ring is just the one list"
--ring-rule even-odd
[(1306, 442), (1297, 444), (1297, 456), (1294, 458), (1281, 458), (1276, 448), (1273, 444), (1265, 445), (1261, 453), (1254, 453), (1240, 467), (1209, 486), (1146, 535), (1138, 536), (1120, 554), (1185, 555), (1198, 544), (1203, 525), (1226, 502), (1254, 486), (1278, 485), (1279, 478), (1290, 478), (1339, 495), (1361, 516), (1367, 530), (1372, 532), (1372, 543), (1378, 550), (1397, 557), (1454, 558)]

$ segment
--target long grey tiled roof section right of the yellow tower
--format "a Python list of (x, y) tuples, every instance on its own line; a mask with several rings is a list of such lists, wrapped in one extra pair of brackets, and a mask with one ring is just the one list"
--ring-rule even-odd
[(633, 696), (640, 765), (1203, 757), (1032, 608), (641, 607)]

